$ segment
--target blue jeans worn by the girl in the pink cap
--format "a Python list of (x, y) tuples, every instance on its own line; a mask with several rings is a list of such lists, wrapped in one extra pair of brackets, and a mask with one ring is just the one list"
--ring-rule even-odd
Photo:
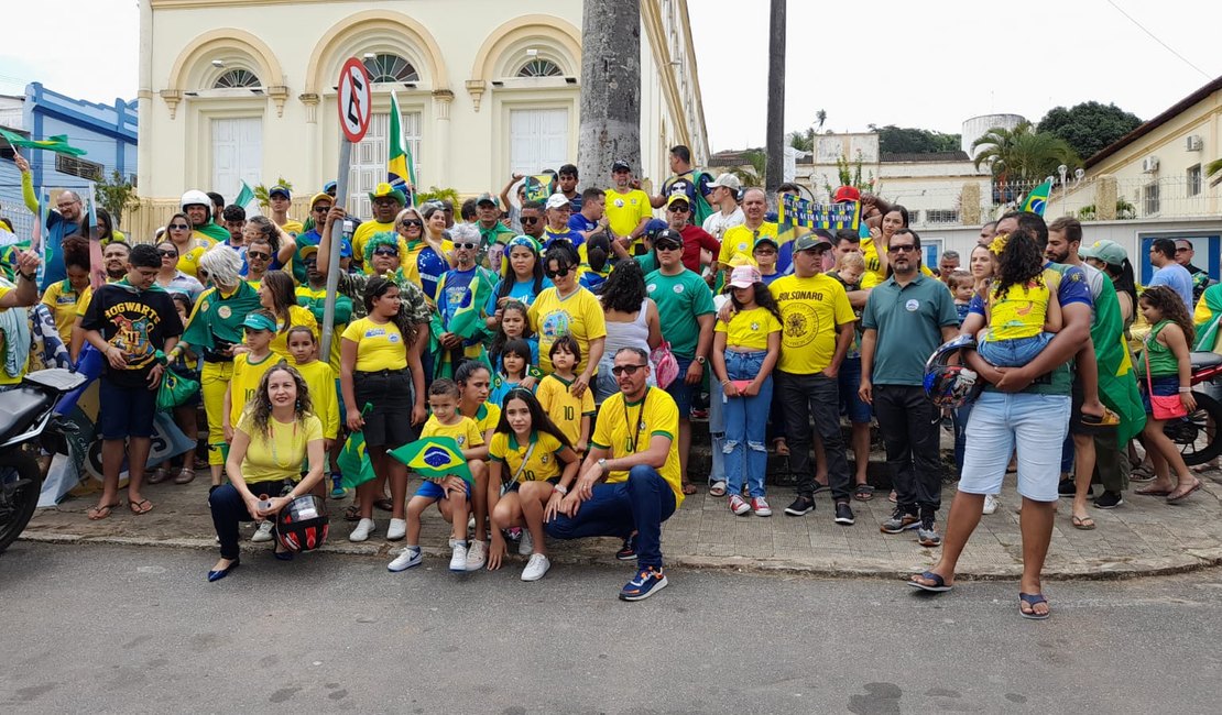
[[(764, 366), (766, 350), (736, 353), (726, 350), (726, 376), (730, 379), (754, 379)], [(767, 471), (767, 412), (772, 404), (772, 376), (764, 379), (760, 393), (753, 398), (726, 398), (721, 395), (726, 415), (726, 443), (721, 450), (726, 456), (726, 490), (741, 494), (745, 476), (749, 494), (764, 495), (764, 473)]]

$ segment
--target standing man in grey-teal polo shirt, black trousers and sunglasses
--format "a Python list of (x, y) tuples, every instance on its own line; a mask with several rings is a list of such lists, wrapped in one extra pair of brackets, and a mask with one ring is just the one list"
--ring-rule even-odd
[(920, 273), (920, 237), (902, 228), (887, 245), (892, 275), (870, 292), (862, 314), (862, 387), (874, 405), (896, 487), (884, 533), (916, 528), (923, 547), (942, 543), (934, 521), (942, 503), (938, 410), (925, 399), (925, 361), (959, 331), (954, 299)]

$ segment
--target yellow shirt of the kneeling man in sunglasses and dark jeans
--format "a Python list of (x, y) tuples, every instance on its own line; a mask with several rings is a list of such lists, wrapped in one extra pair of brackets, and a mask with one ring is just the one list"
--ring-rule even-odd
[[(598, 426), (590, 442), (594, 447), (610, 450), (613, 459), (649, 449), (649, 440), (656, 434), (668, 437), (671, 449), (659, 472), (675, 492), (675, 509), (678, 509), (683, 504), (678, 431), (679, 409), (675, 405), (675, 399), (666, 390), (650, 387), (638, 403), (627, 404), (622, 392), (609, 397), (599, 409)], [(627, 471), (615, 471), (607, 476), (609, 484), (627, 480)]]

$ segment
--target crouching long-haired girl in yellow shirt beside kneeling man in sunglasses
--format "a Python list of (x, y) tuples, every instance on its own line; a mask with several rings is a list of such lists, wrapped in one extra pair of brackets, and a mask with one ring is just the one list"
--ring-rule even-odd
[(530, 390), (519, 388), (505, 397), (489, 455), (488, 509), (492, 519), (492, 543), (488, 570), (501, 567), (506, 553), (501, 530), (525, 527), (518, 554), (530, 560), (522, 571), (522, 580), (538, 581), (551, 567), (543, 525), (556, 516), (561, 500), (577, 480), (580, 464), (577, 453)]

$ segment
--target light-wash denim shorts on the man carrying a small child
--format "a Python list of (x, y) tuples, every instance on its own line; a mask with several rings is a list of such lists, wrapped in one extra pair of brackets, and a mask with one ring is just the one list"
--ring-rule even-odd
[(1018, 493), (1034, 501), (1056, 501), (1058, 447), (1069, 429), (1069, 395), (981, 393), (968, 417), (959, 490), (1001, 493), (1006, 465), (1017, 445)]

